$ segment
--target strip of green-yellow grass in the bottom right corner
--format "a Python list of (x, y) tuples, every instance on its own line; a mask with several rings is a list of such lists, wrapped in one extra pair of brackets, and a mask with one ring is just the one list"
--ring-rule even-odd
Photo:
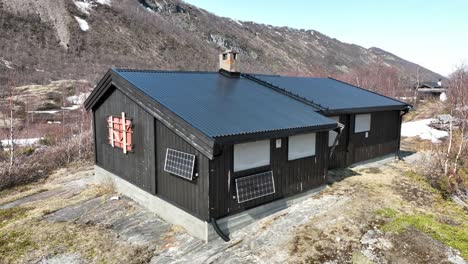
[(447, 246), (460, 251), (468, 259), (468, 225), (440, 222), (433, 214), (400, 215), (383, 226), (385, 232), (403, 232), (416, 228)]

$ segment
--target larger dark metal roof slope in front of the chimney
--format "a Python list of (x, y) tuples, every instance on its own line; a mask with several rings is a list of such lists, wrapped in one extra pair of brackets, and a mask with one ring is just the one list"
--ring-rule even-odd
[(217, 72), (114, 72), (210, 137), (321, 127), (336, 122), (244, 77)]

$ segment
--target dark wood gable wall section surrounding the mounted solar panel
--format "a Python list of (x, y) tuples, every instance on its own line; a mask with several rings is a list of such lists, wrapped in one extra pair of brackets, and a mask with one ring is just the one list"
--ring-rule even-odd
[[(202, 220), (208, 220), (209, 159), (159, 121), (156, 121), (156, 148), (157, 195)], [(190, 181), (164, 171), (167, 148), (195, 155), (198, 177)]]

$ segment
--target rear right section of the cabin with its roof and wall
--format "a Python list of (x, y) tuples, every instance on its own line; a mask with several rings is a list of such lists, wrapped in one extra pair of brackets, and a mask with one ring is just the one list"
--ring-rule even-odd
[(328, 145), (334, 151), (329, 169), (399, 155), (401, 121), (408, 104), (332, 78), (251, 77), (309, 102), (317, 113), (344, 125), (336, 144), (337, 133), (330, 131)]

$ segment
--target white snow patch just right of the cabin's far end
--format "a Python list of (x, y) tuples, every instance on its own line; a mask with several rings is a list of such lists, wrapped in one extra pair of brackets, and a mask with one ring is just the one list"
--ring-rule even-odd
[(439, 139), (448, 136), (447, 131), (437, 130), (431, 128), (429, 124), (434, 121), (434, 118), (423, 119), (412, 122), (405, 122), (401, 126), (402, 137), (416, 137), (419, 136), (421, 139), (431, 140), (433, 143), (440, 142)]

